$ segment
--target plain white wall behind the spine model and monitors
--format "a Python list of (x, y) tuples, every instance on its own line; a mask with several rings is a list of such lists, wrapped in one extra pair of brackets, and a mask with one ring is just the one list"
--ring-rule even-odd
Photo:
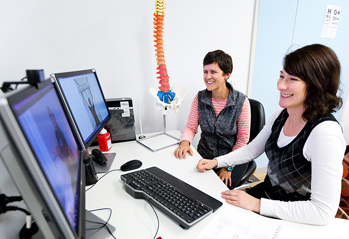
[[(131, 97), (136, 105), (137, 87), (143, 133), (163, 130), (163, 115), (148, 93), (160, 86), (154, 0), (1, 0), (0, 9), (0, 82), (21, 80), (26, 69), (44, 69), (48, 77), (95, 68), (106, 98)], [(167, 130), (183, 130), (195, 94), (205, 89), (208, 51), (232, 56), (230, 79), (246, 93), (253, 11), (254, 0), (166, 0), (169, 83), (188, 91), (179, 112), (166, 116)]]

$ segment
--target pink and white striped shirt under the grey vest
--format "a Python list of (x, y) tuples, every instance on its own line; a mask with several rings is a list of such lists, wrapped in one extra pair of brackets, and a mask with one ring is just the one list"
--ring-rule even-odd
[[(219, 113), (226, 106), (226, 102), (228, 101), (228, 98), (225, 100), (215, 100), (213, 98), (211, 99), (212, 99), (213, 108), (217, 117)], [(237, 120), (238, 133), (236, 135), (236, 142), (232, 151), (246, 145), (246, 143), (248, 142), (250, 122), (251, 122), (251, 109), (249, 106), (249, 101), (246, 98), (241, 111), (241, 115)], [(191, 144), (195, 134), (198, 133), (198, 127), (199, 127), (199, 110), (198, 110), (198, 94), (196, 94), (191, 104), (188, 121), (186, 122), (185, 128), (182, 132), (182, 137), (180, 141), (187, 140)]]

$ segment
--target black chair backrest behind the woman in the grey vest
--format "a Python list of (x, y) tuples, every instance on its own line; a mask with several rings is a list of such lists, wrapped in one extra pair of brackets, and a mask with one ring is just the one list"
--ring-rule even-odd
[(266, 114), (264, 112), (264, 107), (258, 100), (248, 99), (251, 106), (251, 126), (249, 141), (252, 141), (259, 132), (263, 129), (266, 124)]

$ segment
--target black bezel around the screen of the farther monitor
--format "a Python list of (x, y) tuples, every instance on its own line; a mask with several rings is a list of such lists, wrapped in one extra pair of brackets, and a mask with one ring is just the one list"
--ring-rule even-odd
[[(102, 97), (103, 97), (103, 100), (104, 100), (104, 104), (105, 104), (106, 110), (108, 111), (108, 116), (107, 116), (107, 118), (103, 119), (103, 121), (102, 121), (101, 125), (99, 126), (99, 128), (97, 130), (94, 130), (93, 135), (92, 136), (90, 135), (90, 138), (86, 142), (83, 139), (83, 137), (82, 137), (81, 130), (79, 129), (79, 126), (78, 126), (78, 124), (76, 122), (76, 119), (75, 119), (75, 117), (73, 115), (73, 112), (72, 112), (72, 110), (71, 110), (71, 108), (69, 106), (69, 102), (66, 99), (66, 96), (65, 96), (65, 94), (63, 92), (62, 85), (61, 85), (59, 79), (60, 78), (66, 78), (66, 77), (72, 77), (72, 76), (78, 76), (78, 75), (84, 75), (84, 74), (90, 74), (90, 73), (94, 73), (95, 74), (98, 86), (100, 88), (100, 91), (101, 91), (101, 94), (102, 94)], [(79, 70), (79, 71), (53, 73), (53, 74), (51, 74), (51, 77), (53, 77), (55, 79), (55, 83), (57, 84), (57, 86), (59, 88), (59, 91), (60, 91), (59, 93), (60, 93), (60, 96), (61, 96), (62, 100), (64, 101), (64, 106), (65, 106), (66, 110), (69, 113), (69, 120), (71, 120), (71, 123), (74, 125), (73, 129), (76, 131), (76, 135), (78, 135), (78, 141), (81, 144), (82, 149), (87, 149), (93, 143), (93, 141), (97, 138), (98, 134), (106, 126), (108, 121), (111, 119), (111, 115), (110, 115), (110, 112), (109, 112), (109, 109), (108, 109), (108, 106), (107, 106), (107, 103), (106, 103), (106, 100), (105, 100), (105, 97), (104, 97), (104, 93), (103, 93), (103, 89), (102, 89), (100, 80), (98, 79), (98, 76), (97, 76), (97, 72), (96, 72), (95, 69), (87, 69), (87, 70)]]

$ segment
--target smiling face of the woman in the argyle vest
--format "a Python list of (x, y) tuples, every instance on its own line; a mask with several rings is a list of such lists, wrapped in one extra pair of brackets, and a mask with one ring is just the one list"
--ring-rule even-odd
[(289, 75), (282, 69), (277, 88), (280, 91), (279, 105), (282, 108), (304, 112), (303, 104), (307, 96), (307, 85), (304, 80)]

